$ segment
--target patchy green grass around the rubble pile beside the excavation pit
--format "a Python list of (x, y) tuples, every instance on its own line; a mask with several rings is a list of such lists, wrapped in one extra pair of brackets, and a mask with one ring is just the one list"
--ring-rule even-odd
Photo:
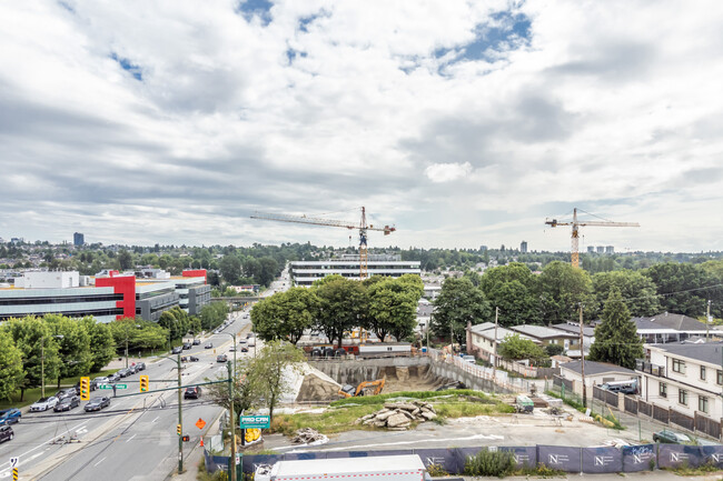
[[(465, 399), (472, 395), (488, 400), (486, 402), (471, 402)], [(324, 434), (335, 434), (350, 430), (373, 431), (378, 428), (355, 424), (363, 415), (370, 414), (384, 408), (384, 403), (396, 398), (415, 398), (434, 401), (437, 412), (436, 422), (442, 423), (446, 418), (463, 418), (475, 415), (494, 415), (514, 412), (512, 405), (494, 401), (488, 395), (471, 390), (457, 391), (414, 391), (395, 392), (361, 398), (348, 398), (331, 403), (330, 409), (320, 414), (276, 414), (271, 423), (271, 431), (291, 435), (297, 429), (313, 428)], [(484, 397), (484, 398), (483, 398)]]

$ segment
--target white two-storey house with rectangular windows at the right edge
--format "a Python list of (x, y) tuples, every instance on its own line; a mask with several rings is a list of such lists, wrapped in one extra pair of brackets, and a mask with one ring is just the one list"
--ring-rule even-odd
[(645, 401), (691, 417), (723, 417), (723, 343), (646, 344), (645, 351), (636, 367)]

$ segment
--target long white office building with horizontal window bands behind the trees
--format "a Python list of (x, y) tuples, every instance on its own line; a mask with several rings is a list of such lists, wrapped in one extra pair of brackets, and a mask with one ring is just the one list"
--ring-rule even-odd
[[(422, 263), (419, 261), (402, 261), (400, 259), (400, 255), (369, 255), (367, 262), (368, 275), (398, 278), (404, 274), (422, 274)], [(308, 287), (317, 279), (331, 274), (359, 280), (359, 257), (356, 254), (344, 254), (339, 259), (325, 261), (295, 261), (289, 264), (289, 273), (297, 285)]]

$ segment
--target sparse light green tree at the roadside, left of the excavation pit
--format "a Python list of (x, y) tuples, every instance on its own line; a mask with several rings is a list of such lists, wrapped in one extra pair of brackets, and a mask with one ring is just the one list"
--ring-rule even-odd
[(289, 371), (300, 373), (305, 360), (300, 349), (281, 341), (267, 342), (254, 359), (248, 372), (249, 381), (258, 389), (271, 420), (281, 397), (291, 389)]

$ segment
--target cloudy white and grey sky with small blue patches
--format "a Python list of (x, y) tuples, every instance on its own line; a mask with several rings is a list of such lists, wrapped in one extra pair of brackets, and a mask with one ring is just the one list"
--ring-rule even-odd
[(723, 2), (0, 3), (0, 238), (723, 250)]

